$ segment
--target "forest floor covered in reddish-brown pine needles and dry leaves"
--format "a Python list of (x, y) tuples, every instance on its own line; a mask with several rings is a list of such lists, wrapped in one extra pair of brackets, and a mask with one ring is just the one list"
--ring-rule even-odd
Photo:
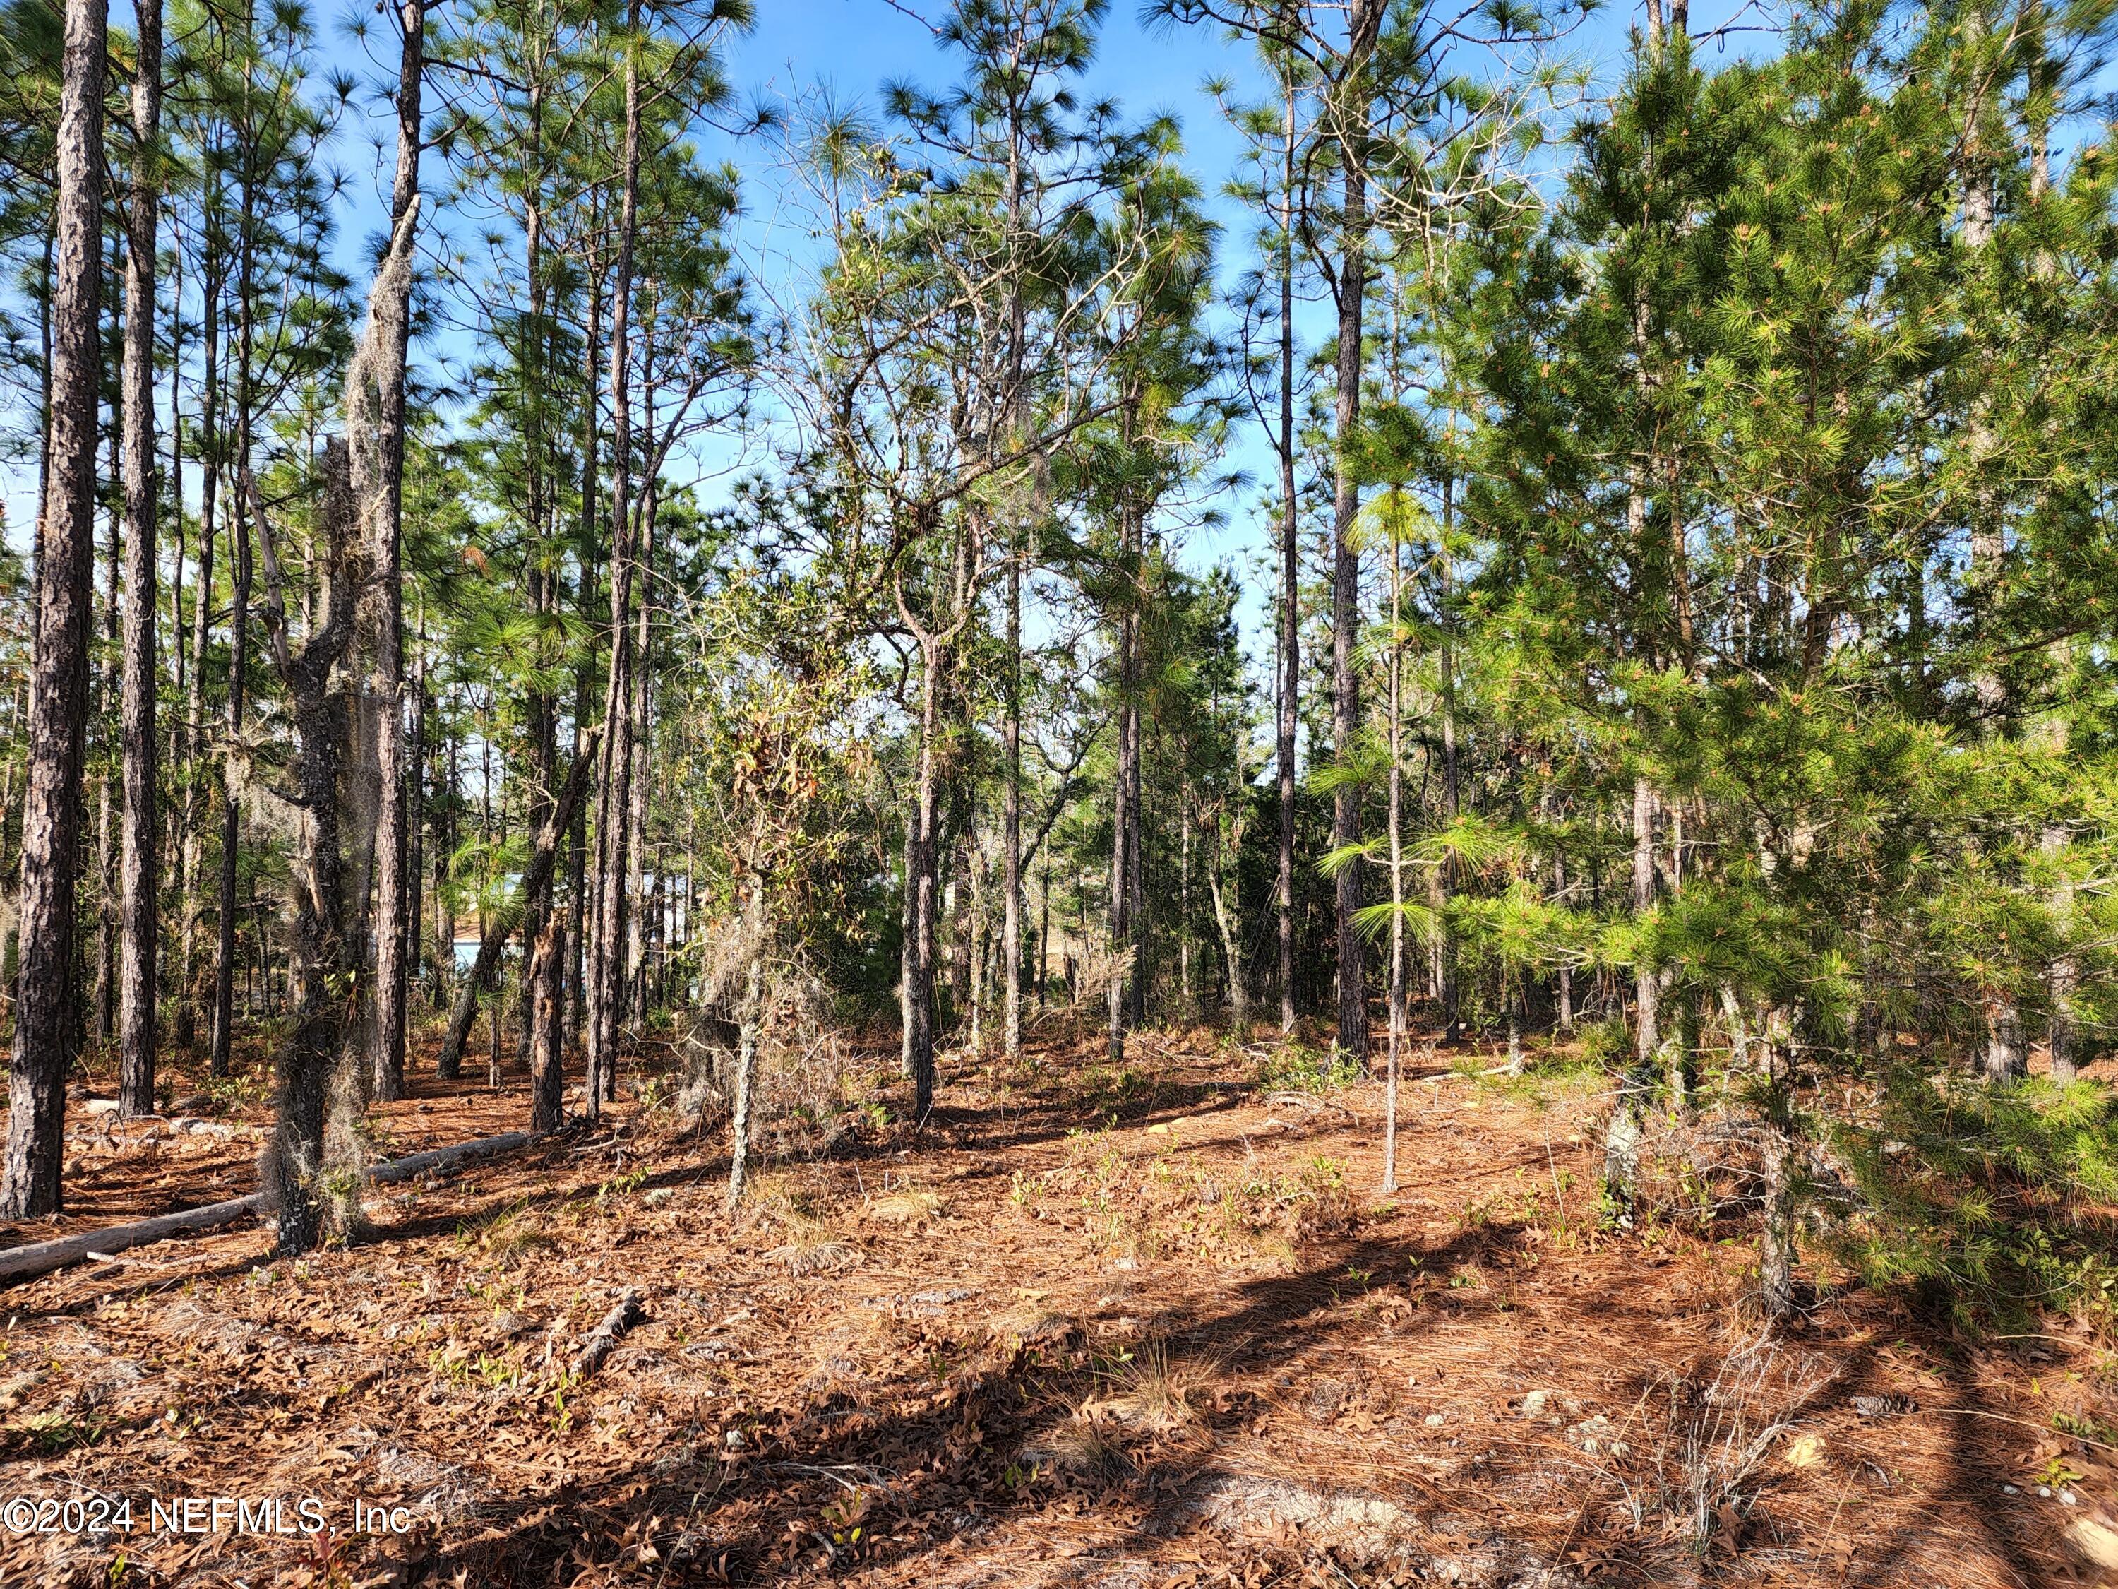
[[(244, 1225), (17, 1284), (0, 1502), (80, 1506), (0, 1506), (0, 1583), (2097, 1581), (2097, 1343), (1864, 1290), (1769, 1339), (1743, 1212), (1603, 1229), (1597, 1078), (1447, 1059), (1387, 1197), (1377, 1085), (1053, 1028), (947, 1057), (926, 1129), (856, 1053), (737, 1216), (726, 1133), (640, 1061), (599, 1125), (377, 1189), (352, 1248)], [(472, 1070), (377, 1150), (519, 1127), (523, 1078)], [(72, 1212), (0, 1244), (252, 1189), (263, 1089), (182, 1102), (214, 1129), (72, 1104)], [(572, 1373), (627, 1288), (644, 1320)]]

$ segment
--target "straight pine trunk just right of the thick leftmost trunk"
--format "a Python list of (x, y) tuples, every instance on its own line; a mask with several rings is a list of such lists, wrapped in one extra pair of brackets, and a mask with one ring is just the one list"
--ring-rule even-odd
[[(136, 0), (133, 172), (125, 254), (125, 818), (119, 900), (119, 1112), (155, 1112), (161, 917), (155, 744), (155, 231), (161, 210), (161, 0)], [(182, 513), (182, 504), (178, 504)]]

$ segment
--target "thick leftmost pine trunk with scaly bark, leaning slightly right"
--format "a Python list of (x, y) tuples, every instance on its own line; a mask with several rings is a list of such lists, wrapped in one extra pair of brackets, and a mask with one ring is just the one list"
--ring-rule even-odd
[(95, 373), (102, 303), (104, 0), (66, 0), (51, 269), (51, 407), (36, 559), (36, 640), (23, 792), (19, 981), (8, 1059), (0, 1218), (59, 1210), (74, 883), (95, 566)]

